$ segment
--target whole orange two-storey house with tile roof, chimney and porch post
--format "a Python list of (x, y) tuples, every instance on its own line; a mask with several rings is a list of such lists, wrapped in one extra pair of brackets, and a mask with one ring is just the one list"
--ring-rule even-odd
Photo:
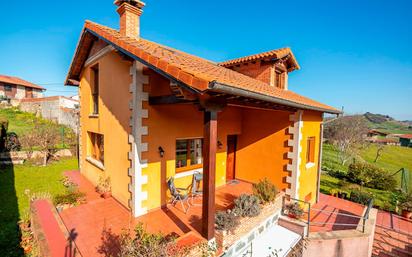
[(317, 201), (324, 113), (297, 93), (290, 48), (215, 63), (140, 37), (144, 4), (117, 0), (120, 30), (86, 21), (65, 84), (79, 87), (80, 170), (139, 217), (203, 173), (202, 235), (214, 238), (215, 190), (268, 178)]

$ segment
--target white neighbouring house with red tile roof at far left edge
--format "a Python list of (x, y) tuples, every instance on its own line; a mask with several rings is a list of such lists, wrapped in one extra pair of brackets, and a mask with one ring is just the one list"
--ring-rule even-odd
[(46, 89), (17, 77), (0, 75), (0, 96), (10, 100), (43, 97)]

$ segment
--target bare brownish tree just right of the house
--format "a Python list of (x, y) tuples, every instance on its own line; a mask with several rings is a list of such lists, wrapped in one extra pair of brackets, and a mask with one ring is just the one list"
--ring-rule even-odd
[(345, 165), (362, 146), (367, 131), (367, 123), (361, 115), (343, 116), (325, 122), (324, 136), (339, 150), (339, 160)]

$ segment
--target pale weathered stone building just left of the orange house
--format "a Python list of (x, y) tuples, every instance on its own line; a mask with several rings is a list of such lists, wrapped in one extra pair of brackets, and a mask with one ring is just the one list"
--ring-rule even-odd
[(78, 130), (79, 101), (65, 96), (22, 99), (19, 108)]

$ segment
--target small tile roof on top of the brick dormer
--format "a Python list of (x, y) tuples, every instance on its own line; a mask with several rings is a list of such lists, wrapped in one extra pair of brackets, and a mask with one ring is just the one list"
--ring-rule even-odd
[(267, 58), (280, 59), (288, 55), (291, 56), (291, 60), (294, 66), (293, 69), (296, 69), (296, 70), (300, 69), (298, 62), (296, 61), (296, 58), (293, 55), (289, 47), (275, 49), (275, 50), (267, 51), (264, 53), (259, 53), (259, 54), (254, 54), (254, 55), (249, 55), (245, 57), (240, 57), (240, 58), (224, 61), (224, 62), (219, 63), (219, 65), (223, 67), (229, 67), (229, 66), (233, 66), (233, 65), (237, 65), (237, 64), (241, 64), (245, 62), (257, 61), (257, 60), (262, 60), (262, 59), (267, 59)]

